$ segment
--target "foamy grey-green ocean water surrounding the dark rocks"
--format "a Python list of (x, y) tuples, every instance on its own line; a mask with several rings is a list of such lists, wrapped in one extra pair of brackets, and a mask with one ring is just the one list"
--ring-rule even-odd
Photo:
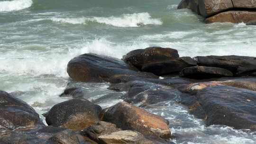
[[(73, 57), (95, 53), (121, 58), (148, 46), (177, 49), (181, 56), (256, 56), (256, 26), (215, 23), (181, 0), (0, 0), (0, 90), (15, 91), (39, 114), (60, 98)], [(108, 94), (109, 83), (80, 83), (88, 99)], [(101, 101), (109, 107), (118, 97)], [(166, 101), (147, 109), (170, 121), (176, 144), (256, 144), (256, 134), (228, 126), (204, 126), (187, 108)], [(43, 117), (42, 117), (43, 118)]]

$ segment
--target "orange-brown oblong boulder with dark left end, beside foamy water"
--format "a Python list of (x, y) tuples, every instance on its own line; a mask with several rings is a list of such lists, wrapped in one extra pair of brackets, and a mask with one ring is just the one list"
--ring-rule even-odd
[(146, 110), (126, 102), (104, 109), (103, 120), (117, 125), (123, 130), (134, 130), (143, 135), (169, 139), (171, 131), (163, 117), (148, 113)]

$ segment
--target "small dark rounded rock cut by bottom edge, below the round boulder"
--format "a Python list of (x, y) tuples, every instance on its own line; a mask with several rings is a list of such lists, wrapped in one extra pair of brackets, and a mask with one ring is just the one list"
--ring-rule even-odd
[(80, 144), (78, 137), (71, 130), (61, 131), (50, 138), (53, 144)]

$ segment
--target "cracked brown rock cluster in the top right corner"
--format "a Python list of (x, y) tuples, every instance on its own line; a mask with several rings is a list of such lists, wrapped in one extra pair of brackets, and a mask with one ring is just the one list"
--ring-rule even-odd
[(182, 0), (178, 9), (192, 9), (206, 23), (231, 22), (254, 24), (256, 0)]

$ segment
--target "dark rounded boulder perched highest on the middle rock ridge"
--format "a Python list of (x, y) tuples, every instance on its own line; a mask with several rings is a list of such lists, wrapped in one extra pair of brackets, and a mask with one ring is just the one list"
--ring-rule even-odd
[(137, 49), (123, 56), (123, 60), (141, 70), (144, 64), (157, 63), (179, 58), (178, 51), (172, 48), (148, 47)]

